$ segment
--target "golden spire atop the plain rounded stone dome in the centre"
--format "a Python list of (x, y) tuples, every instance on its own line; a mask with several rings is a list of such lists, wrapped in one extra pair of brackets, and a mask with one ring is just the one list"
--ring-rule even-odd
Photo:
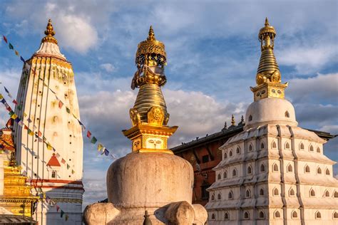
[(133, 127), (123, 131), (133, 141), (133, 152), (165, 152), (167, 139), (178, 127), (168, 127), (169, 113), (161, 86), (167, 81), (164, 75), (166, 53), (164, 44), (155, 38), (150, 26), (148, 38), (138, 44), (135, 63), (138, 70), (131, 88), (140, 88), (135, 105), (130, 109)]

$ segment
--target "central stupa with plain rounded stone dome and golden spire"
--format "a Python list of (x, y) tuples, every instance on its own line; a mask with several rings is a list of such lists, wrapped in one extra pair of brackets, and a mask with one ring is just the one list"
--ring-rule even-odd
[(138, 45), (131, 88), (140, 88), (130, 109), (133, 127), (123, 130), (132, 152), (111, 164), (107, 172), (108, 203), (91, 204), (86, 224), (205, 224), (207, 212), (191, 204), (193, 167), (168, 150), (167, 140), (178, 127), (169, 127), (161, 91), (166, 83), (165, 46), (150, 26)]

